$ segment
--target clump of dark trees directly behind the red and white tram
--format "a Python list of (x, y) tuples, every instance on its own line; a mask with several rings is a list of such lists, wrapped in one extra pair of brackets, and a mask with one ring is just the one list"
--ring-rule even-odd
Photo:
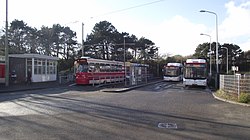
[(147, 59), (156, 59), (158, 54), (158, 48), (151, 40), (144, 37), (138, 40), (135, 35), (130, 36), (126, 32), (119, 33), (107, 21), (101, 21), (95, 25), (92, 33), (87, 36), (84, 46), (87, 56), (100, 59), (123, 61), (124, 52), (126, 52), (126, 61), (144, 60), (145, 62)]

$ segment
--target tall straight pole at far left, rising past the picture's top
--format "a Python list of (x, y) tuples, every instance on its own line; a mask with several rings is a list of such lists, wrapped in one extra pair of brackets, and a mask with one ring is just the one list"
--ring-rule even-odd
[(9, 86), (8, 0), (6, 0), (6, 23), (5, 23), (5, 86)]

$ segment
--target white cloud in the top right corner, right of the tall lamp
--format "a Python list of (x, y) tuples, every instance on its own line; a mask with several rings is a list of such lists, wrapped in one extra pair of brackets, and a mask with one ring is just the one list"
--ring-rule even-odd
[(250, 50), (250, 1), (236, 5), (231, 1), (225, 4), (226, 18), (219, 25), (219, 40), (233, 43), (243, 51)]

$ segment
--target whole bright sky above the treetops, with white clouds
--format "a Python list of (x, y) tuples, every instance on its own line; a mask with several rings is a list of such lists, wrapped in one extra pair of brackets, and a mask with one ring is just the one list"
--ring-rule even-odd
[[(0, 28), (5, 27), (6, 0), (0, 1)], [(23, 20), (40, 29), (59, 23), (69, 26), (81, 42), (94, 25), (108, 21), (119, 32), (152, 40), (161, 55), (192, 55), (199, 44), (232, 43), (250, 50), (249, 0), (8, 0), (8, 21)]]

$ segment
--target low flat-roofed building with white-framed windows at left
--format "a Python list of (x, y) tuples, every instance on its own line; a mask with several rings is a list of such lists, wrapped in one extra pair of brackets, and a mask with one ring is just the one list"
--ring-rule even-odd
[(57, 60), (59, 60), (57, 57), (41, 54), (10, 54), (9, 59), (9, 72), (16, 73), (18, 83), (26, 81), (28, 70), (31, 71), (32, 82), (57, 80)]

